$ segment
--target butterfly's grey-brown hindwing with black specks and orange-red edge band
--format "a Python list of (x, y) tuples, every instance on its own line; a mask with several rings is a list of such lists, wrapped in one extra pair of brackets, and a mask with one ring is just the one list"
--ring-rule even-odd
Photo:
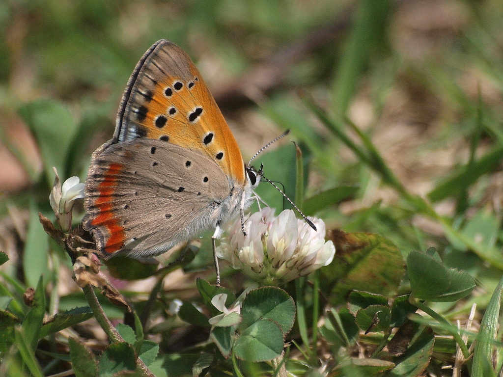
[(95, 156), (83, 224), (105, 255), (158, 255), (215, 228), (228, 215), (230, 194), (223, 170), (201, 153), (131, 140)]

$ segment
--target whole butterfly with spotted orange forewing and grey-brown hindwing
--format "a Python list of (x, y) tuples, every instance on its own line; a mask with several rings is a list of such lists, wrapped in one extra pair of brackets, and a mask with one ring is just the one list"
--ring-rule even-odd
[(105, 258), (152, 257), (207, 229), (214, 240), (261, 177), (189, 56), (160, 40), (129, 78), (113, 138), (93, 153), (83, 227)]

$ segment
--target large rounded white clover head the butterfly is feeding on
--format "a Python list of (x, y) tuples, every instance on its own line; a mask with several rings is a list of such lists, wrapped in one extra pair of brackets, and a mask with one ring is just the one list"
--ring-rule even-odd
[(325, 242), (325, 224), (309, 218), (317, 228), (297, 219), (292, 210), (274, 216), (264, 208), (244, 222), (246, 236), (237, 220), (227, 230), (228, 238), (217, 247), (219, 258), (264, 284), (285, 283), (328, 265), (336, 253), (332, 241)]

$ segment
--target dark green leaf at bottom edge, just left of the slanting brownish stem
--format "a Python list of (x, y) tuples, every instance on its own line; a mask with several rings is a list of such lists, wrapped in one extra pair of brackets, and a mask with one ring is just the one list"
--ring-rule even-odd
[(109, 345), (100, 358), (100, 377), (112, 377), (123, 370), (136, 369), (136, 356), (131, 344), (120, 342)]

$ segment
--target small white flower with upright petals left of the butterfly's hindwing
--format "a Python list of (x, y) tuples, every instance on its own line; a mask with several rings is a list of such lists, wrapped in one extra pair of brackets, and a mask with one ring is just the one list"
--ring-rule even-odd
[(84, 197), (85, 184), (80, 183), (78, 177), (73, 176), (66, 179), (63, 182), (63, 186), (61, 186), (58, 172), (56, 168), (53, 169), (56, 176), (51, 194), (49, 195), (49, 203), (56, 214), (56, 221), (61, 226), (61, 229), (69, 231), (71, 229), (71, 215), (74, 201), (75, 199)]

